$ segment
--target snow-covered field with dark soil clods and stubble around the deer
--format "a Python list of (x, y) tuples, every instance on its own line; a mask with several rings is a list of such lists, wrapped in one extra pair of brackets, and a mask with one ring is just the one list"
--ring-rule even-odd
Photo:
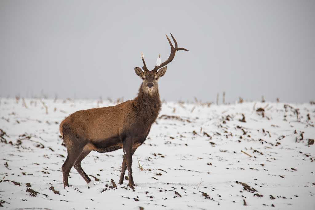
[[(123, 151), (92, 151), (87, 185), (61, 166), (60, 122), (97, 100), (0, 99), (0, 200), (7, 209), (315, 209), (315, 105), (163, 103), (118, 184)], [(261, 108), (261, 109), (260, 109)], [(127, 173), (126, 173), (127, 175)], [(111, 179), (113, 181), (111, 181)], [(114, 186), (113, 186), (114, 185)]]

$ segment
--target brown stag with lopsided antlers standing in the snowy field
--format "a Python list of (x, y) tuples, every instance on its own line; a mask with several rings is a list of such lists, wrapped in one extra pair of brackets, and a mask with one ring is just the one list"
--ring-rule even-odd
[(142, 79), (135, 99), (115, 106), (76, 111), (60, 123), (59, 131), (67, 149), (67, 158), (61, 167), (65, 189), (69, 187), (68, 177), (72, 166), (89, 184), (91, 179), (83, 171), (81, 162), (91, 151), (104, 153), (118, 149), (123, 149), (124, 154), (118, 184), (123, 184), (128, 168), (128, 186), (135, 186), (131, 169), (132, 155), (146, 140), (162, 106), (157, 82), (166, 73), (166, 65), (174, 59), (175, 53), (188, 51), (178, 48), (172, 34), (171, 37), (175, 46), (166, 35), (171, 47), (169, 58), (161, 63), (159, 54), (153, 70), (148, 70), (141, 54), (143, 71), (140, 67), (134, 68), (136, 75)]

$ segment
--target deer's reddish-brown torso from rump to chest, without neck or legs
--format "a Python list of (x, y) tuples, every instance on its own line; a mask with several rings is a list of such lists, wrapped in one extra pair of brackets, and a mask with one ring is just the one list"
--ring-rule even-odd
[[(94, 150), (100, 153), (123, 148), (122, 141), (132, 137), (132, 147), (140, 146), (150, 132), (145, 120), (139, 122), (133, 116), (132, 101), (116, 106), (76, 111), (60, 124), (60, 133), (66, 147), (72, 144), (83, 146), (83, 150)], [(117, 112), (117, 109), (119, 112)], [(129, 111), (128, 111), (129, 110)], [(72, 141), (68, 141), (68, 138)], [(106, 138), (104, 138), (106, 137)]]

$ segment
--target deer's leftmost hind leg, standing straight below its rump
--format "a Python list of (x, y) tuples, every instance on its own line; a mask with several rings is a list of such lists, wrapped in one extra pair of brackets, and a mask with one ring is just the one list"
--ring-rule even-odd
[[(76, 138), (74, 141), (73, 139)], [(83, 146), (81, 145), (79, 139), (77, 137), (74, 137), (72, 135), (65, 135), (64, 134), (64, 142), (67, 147), (68, 156), (64, 164), (62, 165), (62, 176), (63, 176), (63, 186), (66, 188), (69, 186), (69, 173), (70, 170), (74, 164), (74, 162), (77, 160), (78, 156), (82, 153)]]

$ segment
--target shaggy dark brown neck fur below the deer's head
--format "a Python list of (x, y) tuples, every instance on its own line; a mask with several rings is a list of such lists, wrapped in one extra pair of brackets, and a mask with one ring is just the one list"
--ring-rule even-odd
[(148, 94), (143, 91), (141, 84), (138, 96), (134, 99), (134, 101), (137, 117), (144, 122), (152, 124), (161, 110), (161, 100), (158, 89), (156, 92)]

